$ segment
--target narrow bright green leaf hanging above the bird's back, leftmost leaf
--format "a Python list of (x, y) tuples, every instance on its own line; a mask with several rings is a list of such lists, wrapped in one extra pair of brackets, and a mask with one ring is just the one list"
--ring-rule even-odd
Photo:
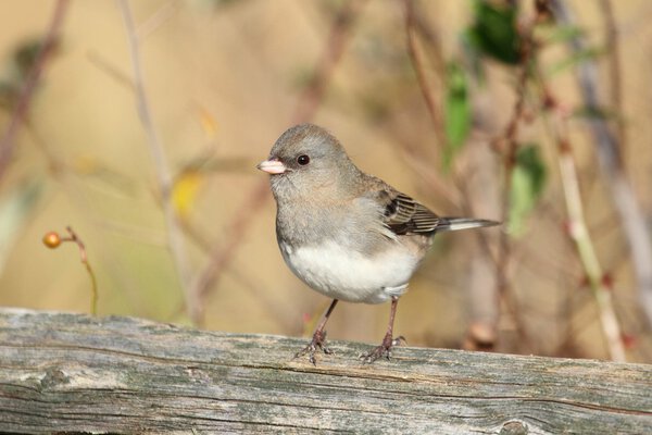
[(446, 76), (443, 167), (449, 170), (453, 157), (462, 149), (471, 129), (471, 107), (466, 75), (457, 63), (450, 63)]

